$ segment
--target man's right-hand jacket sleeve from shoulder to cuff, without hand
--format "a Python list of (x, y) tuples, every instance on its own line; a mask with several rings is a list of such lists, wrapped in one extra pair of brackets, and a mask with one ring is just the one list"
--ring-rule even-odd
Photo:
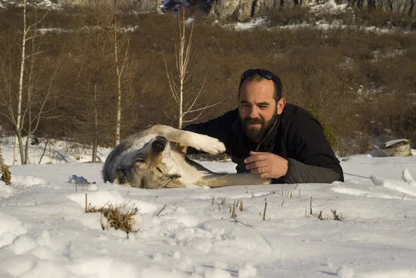
[(318, 182), (331, 183), (344, 181), (343, 168), (320, 123), (312, 116), (306, 121), (293, 121), (288, 134), (288, 146), (293, 148), (295, 157), (288, 157), (288, 173), (283, 178), (286, 183)]

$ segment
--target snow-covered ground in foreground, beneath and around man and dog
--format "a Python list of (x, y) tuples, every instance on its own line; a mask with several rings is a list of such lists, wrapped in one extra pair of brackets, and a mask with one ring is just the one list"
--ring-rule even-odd
[[(1, 147), (10, 164), (10, 143)], [(55, 142), (60, 160), (51, 151), (53, 164), (12, 166), (13, 186), (0, 184), (1, 278), (416, 277), (416, 157), (349, 157), (343, 183), (145, 190), (104, 184), (102, 164), (76, 163), (89, 150), (80, 160), (67, 150)], [(96, 184), (76, 192), (71, 175)], [(139, 208), (139, 232), (103, 230), (85, 194), (92, 206)]]

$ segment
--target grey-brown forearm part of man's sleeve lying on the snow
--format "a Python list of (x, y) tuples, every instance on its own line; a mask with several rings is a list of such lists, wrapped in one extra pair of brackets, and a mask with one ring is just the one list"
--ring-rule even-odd
[(330, 168), (312, 166), (298, 162), (295, 159), (288, 159), (288, 173), (282, 177), (286, 184), (297, 183), (331, 183), (340, 181), (340, 174)]

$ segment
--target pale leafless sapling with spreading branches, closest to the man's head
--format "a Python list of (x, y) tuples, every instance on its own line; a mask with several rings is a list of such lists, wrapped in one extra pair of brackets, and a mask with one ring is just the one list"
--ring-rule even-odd
[[(190, 23), (189, 23), (190, 22)], [(164, 56), (164, 64), (166, 68), (166, 76), (168, 78), (169, 87), (173, 98), (178, 106), (177, 112), (177, 127), (182, 128), (184, 123), (196, 121), (200, 119), (203, 112), (209, 108), (218, 105), (218, 103), (202, 105), (198, 107), (197, 102), (202, 95), (207, 81), (207, 73), (202, 82), (200, 82), (199, 88), (193, 84), (193, 74), (191, 72), (190, 63), (191, 51), (193, 46), (193, 26), (195, 20), (187, 19), (185, 17), (185, 8), (182, 6), (181, 12), (178, 13), (178, 28), (175, 28), (175, 34), (177, 35), (177, 42), (175, 43), (175, 67), (169, 69), (168, 62)], [(190, 25), (191, 29), (187, 32), (187, 25)], [(193, 118), (184, 119), (188, 114), (196, 114)]]

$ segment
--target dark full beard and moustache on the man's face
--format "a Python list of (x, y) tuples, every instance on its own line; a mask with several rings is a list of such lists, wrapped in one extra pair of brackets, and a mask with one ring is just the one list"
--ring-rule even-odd
[[(251, 139), (252, 141), (259, 142), (264, 135), (270, 130), (273, 123), (275, 123), (277, 119), (277, 113), (274, 113), (274, 116), (272, 116), (272, 119), (265, 121), (263, 118), (250, 118), (246, 117), (244, 119), (241, 118), (239, 115), (241, 128), (243, 129), (243, 132), (245, 136), (248, 137), (248, 139)], [(251, 124), (260, 123), (260, 127), (250, 126)]]

